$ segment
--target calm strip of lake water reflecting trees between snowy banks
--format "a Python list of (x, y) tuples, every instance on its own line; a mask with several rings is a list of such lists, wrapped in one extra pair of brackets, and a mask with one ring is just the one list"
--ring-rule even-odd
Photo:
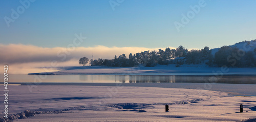
[[(9, 76), (9, 82), (39, 82), (38, 75)], [(3, 76), (0, 76), (4, 79)], [(244, 75), (47, 75), (40, 82), (84, 82), (84, 83), (236, 83), (256, 84), (256, 76)]]

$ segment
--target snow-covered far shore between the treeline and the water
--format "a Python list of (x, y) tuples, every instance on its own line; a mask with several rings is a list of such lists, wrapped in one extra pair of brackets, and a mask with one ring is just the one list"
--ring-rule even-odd
[(256, 68), (225, 68), (225, 67), (205, 67), (204, 65), (183, 65), (175, 67), (174, 64), (168, 66), (156, 67), (103, 67), (103, 66), (87, 66), (87, 67), (60, 67), (57, 72), (42, 72), (31, 74), (110, 74), (110, 75), (225, 75), (225, 74), (241, 74), (256, 75)]

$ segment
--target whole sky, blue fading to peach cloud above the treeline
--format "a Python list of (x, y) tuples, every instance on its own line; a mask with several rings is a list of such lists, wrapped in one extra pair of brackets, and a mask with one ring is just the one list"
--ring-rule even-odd
[[(74, 46), (65, 54), (113, 58), (179, 45), (233, 45), (256, 39), (255, 6), (256, 0), (3, 0), (0, 47), (9, 55), (0, 55), (6, 56), (0, 63), (51, 62), (56, 53)], [(14, 58), (26, 52), (27, 60)]]

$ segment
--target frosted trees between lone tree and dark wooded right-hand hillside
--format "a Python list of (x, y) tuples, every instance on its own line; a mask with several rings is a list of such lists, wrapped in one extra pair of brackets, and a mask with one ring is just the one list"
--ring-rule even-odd
[[(177, 57), (183, 57), (177, 59)], [(184, 58), (186, 58), (184, 60)], [(165, 50), (159, 49), (158, 51), (142, 51), (136, 54), (130, 53), (127, 58), (125, 54), (115, 56), (114, 59), (91, 59), (91, 66), (109, 66), (109, 67), (134, 67), (139, 64), (146, 67), (154, 67), (159, 65), (177, 64), (177, 66), (184, 63), (188, 64), (200, 64), (207, 62), (212, 64), (213, 56), (209, 47), (205, 47), (201, 50), (190, 50), (179, 46), (176, 49), (165, 48)], [(211, 64), (210, 64), (211, 63)]]

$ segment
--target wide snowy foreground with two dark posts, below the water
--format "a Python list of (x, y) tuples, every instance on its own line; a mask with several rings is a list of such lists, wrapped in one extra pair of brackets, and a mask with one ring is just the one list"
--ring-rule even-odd
[[(26, 85), (12, 85), (9, 90), (9, 115), (36, 111), (30, 116), (25, 112), (27, 116), (16, 121), (240, 121), (256, 117), (256, 97), (210, 90), (121, 84), (39, 85), (32, 91)], [(169, 112), (165, 112), (165, 104)], [(243, 113), (240, 104), (244, 105)], [(3, 116), (3, 109), (1, 112)]]

